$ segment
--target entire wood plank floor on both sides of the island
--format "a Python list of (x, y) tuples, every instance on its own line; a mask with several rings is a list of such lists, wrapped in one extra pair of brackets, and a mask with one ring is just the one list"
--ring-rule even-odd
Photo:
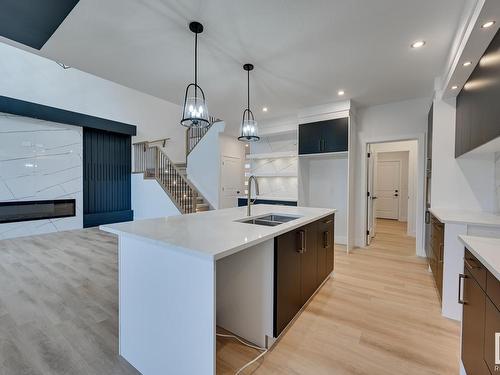
[[(369, 249), (338, 248), (335, 278), (245, 373), (456, 375), (459, 325), (404, 230), (383, 221)], [(138, 374), (117, 355), (116, 256), (95, 229), (0, 241), (1, 375)], [(218, 339), (217, 372), (256, 354)]]

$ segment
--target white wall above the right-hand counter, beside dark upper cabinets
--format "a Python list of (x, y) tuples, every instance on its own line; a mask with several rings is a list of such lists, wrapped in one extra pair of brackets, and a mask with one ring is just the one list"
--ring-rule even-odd
[(495, 156), (455, 159), (455, 99), (434, 101), (431, 205), (435, 208), (495, 212)]

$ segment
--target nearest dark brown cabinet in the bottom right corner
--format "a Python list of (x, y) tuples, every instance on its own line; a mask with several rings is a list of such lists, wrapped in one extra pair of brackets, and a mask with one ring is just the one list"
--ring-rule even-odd
[(495, 373), (495, 334), (500, 332), (500, 282), (467, 249), (459, 279), (462, 362), (468, 375)]

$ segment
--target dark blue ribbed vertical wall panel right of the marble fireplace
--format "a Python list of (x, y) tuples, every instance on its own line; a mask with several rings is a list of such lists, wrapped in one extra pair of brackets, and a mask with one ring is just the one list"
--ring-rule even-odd
[(133, 219), (131, 137), (83, 129), (83, 226)]

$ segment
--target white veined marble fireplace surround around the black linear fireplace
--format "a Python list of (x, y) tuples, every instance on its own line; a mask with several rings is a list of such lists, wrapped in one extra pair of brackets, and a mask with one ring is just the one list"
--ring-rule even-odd
[(0, 201), (76, 199), (76, 216), (0, 224), (0, 239), (83, 226), (82, 128), (0, 113)]

